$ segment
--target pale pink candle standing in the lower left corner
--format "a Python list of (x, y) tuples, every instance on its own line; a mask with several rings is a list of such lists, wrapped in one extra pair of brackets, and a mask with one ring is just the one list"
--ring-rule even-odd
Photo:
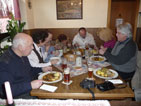
[(6, 90), (6, 96), (7, 96), (7, 106), (15, 106), (9, 81), (6, 81), (4, 83), (4, 86)]

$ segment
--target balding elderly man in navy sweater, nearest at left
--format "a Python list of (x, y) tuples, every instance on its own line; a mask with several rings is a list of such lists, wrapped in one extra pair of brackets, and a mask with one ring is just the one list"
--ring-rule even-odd
[(28, 98), (27, 95), (29, 96), (32, 89), (42, 85), (42, 80), (34, 80), (42, 69), (31, 67), (27, 58), (32, 49), (32, 38), (18, 33), (13, 39), (12, 47), (0, 57), (0, 97), (5, 98), (5, 81), (10, 82), (14, 98)]

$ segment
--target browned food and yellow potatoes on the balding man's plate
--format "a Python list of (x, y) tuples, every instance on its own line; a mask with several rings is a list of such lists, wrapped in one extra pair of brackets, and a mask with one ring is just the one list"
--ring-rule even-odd
[(48, 73), (46, 75), (43, 76), (43, 80), (44, 81), (56, 81), (60, 79), (60, 73), (59, 72), (56, 72), (56, 73)]

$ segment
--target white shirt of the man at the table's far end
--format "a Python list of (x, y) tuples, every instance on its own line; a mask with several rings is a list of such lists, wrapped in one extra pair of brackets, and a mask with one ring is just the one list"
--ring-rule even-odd
[(86, 37), (85, 38), (82, 38), (79, 33), (77, 35), (75, 35), (75, 37), (73, 39), (73, 45), (75, 43), (78, 43), (79, 46), (82, 47), (82, 48), (85, 48), (86, 44), (90, 44), (90, 45), (95, 45), (96, 46), (96, 43), (94, 41), (93, 35), (88, 33), (88, 32), (86, 33)]

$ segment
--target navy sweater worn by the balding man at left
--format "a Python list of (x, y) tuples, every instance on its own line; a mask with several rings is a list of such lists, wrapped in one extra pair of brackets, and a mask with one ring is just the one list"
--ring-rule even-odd
[(9, 48), (0, 57), (0, 96), (5, 98), (5, 81), (10, 82), (13, 97), (29, 93), (39, 72), (41, 69), (32, 68), (27, 57), (19, 57)]

